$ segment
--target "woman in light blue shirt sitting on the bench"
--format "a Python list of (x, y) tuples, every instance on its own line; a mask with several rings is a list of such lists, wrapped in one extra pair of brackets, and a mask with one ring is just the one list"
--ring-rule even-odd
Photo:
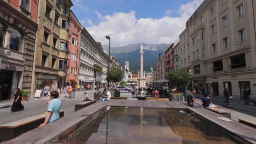
[(51, 101), (47, 101), (48, 107), (47, 107), (47, 115), (45, 117), (45, 122), (42, 123), (39, 127), (59, 119), (59, 111), (61, 109), (61, 100), (58, 99), (58, 97), (59, 97), (58, 91), (51, 91), (50, 93)]

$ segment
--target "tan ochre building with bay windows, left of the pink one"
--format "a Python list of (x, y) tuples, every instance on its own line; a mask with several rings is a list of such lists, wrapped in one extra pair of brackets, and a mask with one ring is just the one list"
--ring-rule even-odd
[(39, 1), (32, 96), (46, 84), (51, 90), (65, 85), (72, 5), (71, 0)]

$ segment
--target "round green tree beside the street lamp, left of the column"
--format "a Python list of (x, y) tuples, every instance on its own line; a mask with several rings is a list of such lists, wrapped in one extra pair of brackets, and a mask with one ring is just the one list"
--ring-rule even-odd
[(125, 77), (125, 71), (121, 67), (112, 67), (107, 71), (106, 80), (109, 82), (120, 82)]

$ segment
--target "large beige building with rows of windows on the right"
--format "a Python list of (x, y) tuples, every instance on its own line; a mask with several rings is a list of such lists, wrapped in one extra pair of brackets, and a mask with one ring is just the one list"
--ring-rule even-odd
[[(181, 69), (191, 71), (192, 86), (223, 96), (224, 88), (243, 99), (256, 96), (256, 3), (204, 0), (181, 33)], [(246, 21), (246, 22), (245, 22)], [(180, 56), (181, 57), (181, 56)]]

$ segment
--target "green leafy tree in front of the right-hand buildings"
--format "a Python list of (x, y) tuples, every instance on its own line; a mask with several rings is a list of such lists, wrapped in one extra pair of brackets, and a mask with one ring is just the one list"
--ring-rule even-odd
[(187, 85), (189, 82), (189, 73), (187, 71), (176, 69), (167, 75), (167, 79), (173, 86)]

